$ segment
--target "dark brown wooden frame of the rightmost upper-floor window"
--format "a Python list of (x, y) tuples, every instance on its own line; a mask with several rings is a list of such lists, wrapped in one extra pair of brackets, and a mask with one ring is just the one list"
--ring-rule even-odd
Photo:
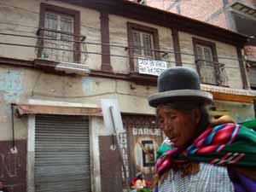
[[(194, 49), (194, 54), (195, 54), (195, 61), (197, 61), (199, 59), (198, 56), (197, 56), (198, 54), (197, 54), (196, 45), (200, 44), (200, 45), (207, 46), (207, 47), (212, 49), (212, 61), (218, 63), (218, 54), (217, 54), (217, 49), (216, 49), (216, 44), (215, 43), (207, 41), (207, 40), (203, 40), (203, 39), (200, 39), (200, 38), (192, 38), (192, 41), (193, 41), (193, 49)], [(195, 65), (196, 65), (197, 73), (199, 73), (199, 75), (201, 77), (200, 65), (198, 64), (198, 62), (195, 62)], [(215, 73), (216, 73), (217, 70), (218, 70), (218, 67), (216, 67), (215, 64), (213, 66), (214, 66), (214, 70), (215, 70)], [(217, 81), (219, 80), (217, 76), (216, 76), (216, 80)], [(205, 82), (201, 82), (201, 83), (207, 84)], [(219, 84), (217, 84), (217, 85), (219, 85)]]

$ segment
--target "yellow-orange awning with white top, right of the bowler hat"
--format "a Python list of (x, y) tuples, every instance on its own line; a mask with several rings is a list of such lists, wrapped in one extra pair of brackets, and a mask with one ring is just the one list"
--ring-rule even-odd
[(213, 100), (218, 101), (252, 103), (256, 99), (255, 90), (231, 89), (208, 84), (201, 84), (201, 89), (212, 93)]

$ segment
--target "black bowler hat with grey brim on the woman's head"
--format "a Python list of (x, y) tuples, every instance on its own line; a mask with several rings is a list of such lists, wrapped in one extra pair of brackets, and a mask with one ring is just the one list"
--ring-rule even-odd
[(149, 105), (154, 108), (177, 101), (212, 102), (212, 94), (201, 90), (198, 73), (189, 67), (167, 68), (160, 74), (157, 87), (158, 93), (148, 97)]

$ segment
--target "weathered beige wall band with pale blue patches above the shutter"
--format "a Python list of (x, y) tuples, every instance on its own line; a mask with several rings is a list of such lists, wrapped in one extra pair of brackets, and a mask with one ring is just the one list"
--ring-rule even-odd
[[(11, 139), (11, 102), (40, 99), (57, 102), (92, 103), (101, 106), (102, 98), (115, 98), (123, 113), (154, 113), (147, 97), (155, 88), (115, 79), (68, 77), (21, 67), (0, 67), (0, 140)], [(15, 137), (26, 138), (26, 118), (15, 118)]]

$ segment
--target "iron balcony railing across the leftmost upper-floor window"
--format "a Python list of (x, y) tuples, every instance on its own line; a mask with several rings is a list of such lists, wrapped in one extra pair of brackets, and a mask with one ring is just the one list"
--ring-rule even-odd
[(38, 58), (86, 65), (85, 36), (51, 29), (38, 29)]

